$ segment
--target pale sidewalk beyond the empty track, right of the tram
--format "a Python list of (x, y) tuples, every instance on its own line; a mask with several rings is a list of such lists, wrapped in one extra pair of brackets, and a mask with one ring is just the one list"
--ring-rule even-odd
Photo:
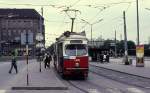
[[(150, 61), (149, 61), (150, 62)], [(150, 67), (136, 67), (134, 65), (124, 65), (121, 59), (110, 59), (110, 63), (90, 62), (91, 65), (112, 69), (124, 73), (138, 75), (141, 77), (150, 78)]]

